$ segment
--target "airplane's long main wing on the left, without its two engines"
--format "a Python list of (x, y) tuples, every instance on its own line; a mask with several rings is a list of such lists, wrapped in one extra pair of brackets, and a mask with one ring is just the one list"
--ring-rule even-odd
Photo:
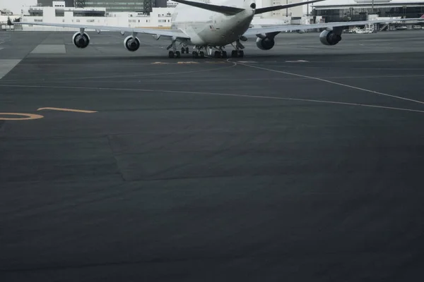
[(31, 23), (31, 22), (16, 22), (14, 25), (45, 25), (52, 27), (71, 27), (71, 28), (85, 28), (92, 30), (105, 30), (105, 31), (119, 31), (119, 32), (136, 32), (144, 33), (148, 35), (160, 35), (163, 37), (177, 37), (186, 38), (190, 37), (181, 30), (159, 30), (153, 28), (136, 28), (136, 27), (114, 27), (107, 25), (83, 25), (83, 24), (72, 24), (72, 23)]

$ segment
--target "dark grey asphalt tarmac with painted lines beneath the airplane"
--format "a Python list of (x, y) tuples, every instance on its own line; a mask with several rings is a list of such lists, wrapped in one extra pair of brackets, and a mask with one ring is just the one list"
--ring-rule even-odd
[(424, 30), (72, 34), (0, 33), (0, 281), (423, 280)]

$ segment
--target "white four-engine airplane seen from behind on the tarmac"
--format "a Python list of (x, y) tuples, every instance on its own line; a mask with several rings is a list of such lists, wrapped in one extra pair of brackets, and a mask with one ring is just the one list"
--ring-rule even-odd
[[(312, 4), (325, 0), (311, 0), (294, 4), (269, 6), (265, 8), (257, 8), (255, 0), (227, 0), (223, 4), (215, 5), (206, 4), (199, 0), (173, 0), (179, 4), (171, 19), (170, 30), (156, 30), (148, 28), (134, 27), (112, 27), (102, 25), (84, 25), (84, 24), (68, 24), (68, 23), (30, 23), (15, 22), (16, 25), (47, 25), (55, 27), (73, 27), (79, 28), (72, 37), (73, 44), (78, 48), (86, 48), (90, 44), (90, 37), (86, 29), (119, 31), (122, 35), (130, 32), (131, 35), (124, 39), (124, 47), (129, 51), (137, 51), (140, 47), (140, 39), (137, 37), (139, 33), (153, 35), (155, 39), (165, 37), (171, 39), (171, 44), (167, 47), (169, 58), (180, 58), (181, 54), (189, 54), (189, 46), (192, 46), (193, 58), (204, 58), (204, 49), (211, 56), (212, 50), (215, 49), (214, 56), (216, 58), (227, 58), (225, 47), (232, 45), (234, 48), (231, 52), (232, 57), (242, 58), (244, 56), (245, 47), (240, 41), (247, 41), (248, 36), (257, 36), (256, 44), (261, 50), (272, 49), (275, 40), (274, 37), (280, 32), (292, 30), (309, 30), (316, 28), (325, 28), (319, 34), (319, 41), (324, 45), (336, 45), (341, 41), (341, 33), (343, 28), (350, 25), (367, 25), (370, 23), (391, 23), (406, 20), (424, 20), (421, 18), (408, 18), (396, 20), (362, 20), (355, 22), (339, 22), (339, 23), (318, 23), (310, 25), (278, 25), (273, 27), (251, 27), (254, 15), (267, 13), (270, 11), (291, 8)], [(177, 50), (177, 42), (181, 47), (181, 52)]]

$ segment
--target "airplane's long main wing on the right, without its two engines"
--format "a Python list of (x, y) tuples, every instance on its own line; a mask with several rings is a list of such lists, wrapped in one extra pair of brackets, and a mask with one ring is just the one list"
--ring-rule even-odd
[(249, 28), (244, 36), (259, 35), (271, 32), (285, 32), (290, 30), (312, 30), (314, 28), (332, 28), (332, 27), (345, 27), (351, 25), (368, 25), (373, 23), (395, 23), (395, 22), (406, 22), (424, 20), (421, 18), (399, 18), (394, 20), (360, 20), (355, 22), (338, 22), (338, 23), (315, 23), (312, 25), (277, 25), (275, 27), (252, 27)]

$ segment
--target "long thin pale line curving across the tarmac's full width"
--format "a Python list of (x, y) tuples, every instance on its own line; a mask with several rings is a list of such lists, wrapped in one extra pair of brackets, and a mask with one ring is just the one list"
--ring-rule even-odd
[(151, 90), (151, 89), (134, 89), (134, 88), (110, 88), (110, 87), (77, 87), (77, 86), (42, 86), (42, 85), (0, 85), (0, 87), (23, 87), (23, 88), (50, 88), (50, 89), (78, 89), (78, 90), (109, 90), (109, 91), (133, 91), (133, 92), (163, 92), (163, 93), (177, 93), (177, 94), (201, 94), (201, 95), (213, 95), (213, 96), (227, 96), (227, 97), (244, 97), (244, 98), (255, 98), (255, 99), (275, 99), (275, 100), (287, 100), (287, 101), (298, 101), (298, 102), (315, 102), (324, 104), (340, 104), (346, 106), (365, 106), (377, 109), (390, 109), (397, 111), (411, 111), (416, 113), (423, 113), (424, 111), (396, 108), (392, 106), (378, 106), (372, 104), (357, 104), (349, 102), (337, 102), (317, 99), (300, 99), (290, 97), (272, 97), (272, 96), (257, 96), (257, 95), (245, 95), (245, 94), (230, 94), (230, 93), (215, 93), (215, 92), (190, 92), (190, 91), (178, 91), (178, 90)]

